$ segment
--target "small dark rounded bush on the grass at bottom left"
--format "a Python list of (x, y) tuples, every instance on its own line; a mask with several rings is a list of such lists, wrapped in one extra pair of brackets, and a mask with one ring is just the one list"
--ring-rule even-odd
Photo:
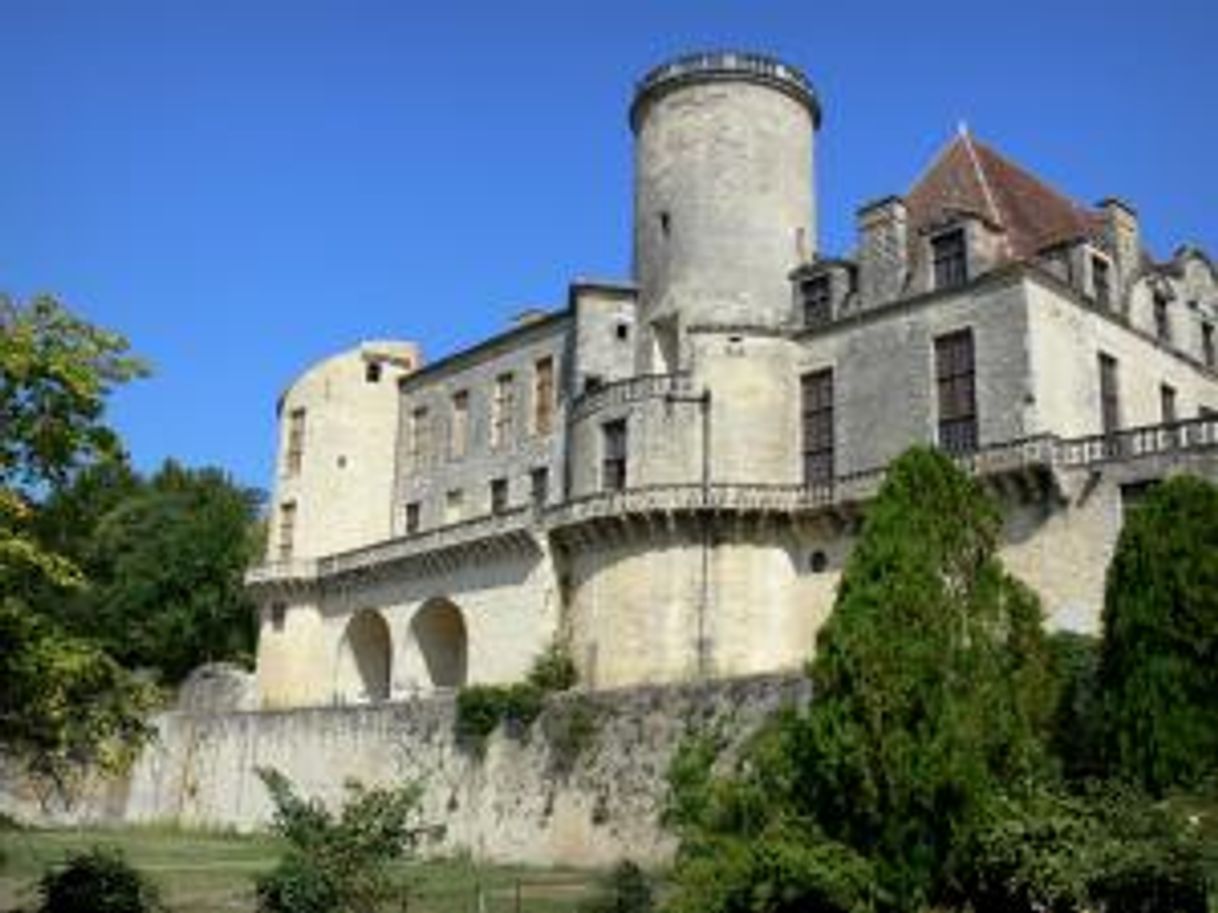
[(68, 857), (39, 881), (40, 913), (152, 913), (160, 894), (117, 850), (93, 847)]

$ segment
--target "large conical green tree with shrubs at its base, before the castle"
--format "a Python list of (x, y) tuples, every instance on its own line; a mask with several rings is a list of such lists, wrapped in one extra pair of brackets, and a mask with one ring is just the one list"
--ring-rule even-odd
[[(948, 895), (991, 797), (1049, 771), (1039, 604), (996, 560), (999, 531), (996, 505), (943, 454), (889, 467), (818, 635), (809, 708), (764, 729), (732, 777), (700, 777), (697, 752), (677, 766), (681, 897), (912, 911)], [(697, 864), (708, 846), (741, 879), (727, 906)], [(759, 896), (760, 876), (782, 890)], [(855, 889), (867, 876), (873, 895)]]

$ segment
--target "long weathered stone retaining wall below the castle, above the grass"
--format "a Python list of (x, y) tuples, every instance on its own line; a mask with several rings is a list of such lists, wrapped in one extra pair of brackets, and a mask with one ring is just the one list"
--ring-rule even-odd
[[(482, 754), (454, 738), (452, 694), (362, 707), (173, 712), (157, 721), (160, 739), (129, 782), (99, 785), (73, 816), (257, 828), (270, 808), (255, 768), (273, 766), (326, 801), (341, 796), (348, 778), (423, 782), (434, 853), (468, 850), (533, 864), (659, 862), (674, 846), (659, 813), (682, 738), (721, 726), (738, 745), (777, 707), (808, 696), (806, 679), (793, 676), (558, 695), (525, 732), (501, 727)], [(0, 811), (46, 818), (28, 790), (11, 778), (0, 783)]]

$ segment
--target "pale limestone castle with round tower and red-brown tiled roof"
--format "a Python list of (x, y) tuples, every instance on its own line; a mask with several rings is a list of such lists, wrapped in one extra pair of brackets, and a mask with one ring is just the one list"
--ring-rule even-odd
[(934, 443), (1005, 515), (1054, 628), (1094, 632), (1121, 517), (1218, 477), (1218, 276), (1150, 258), (961, 133), (857, 247), (817, 245), (820, 100), (752, 54), (648, 73), (633, 276), (424, 364), (368, 342), (279, 404), (261, 705), (525, 676), (591, 688), (798, 668), (883, 469)]

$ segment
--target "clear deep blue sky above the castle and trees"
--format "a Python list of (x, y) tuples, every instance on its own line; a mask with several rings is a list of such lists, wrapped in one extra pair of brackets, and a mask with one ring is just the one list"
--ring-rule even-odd
[(268, 486), (274, 403), (362, 338), (436, 358), (630, 269), (633, 80), (742, 47), (821, 95), (822, 250), (967, 121), (1152, 252), (1218, 252), (1218, 4), (0, 0), (0, 290), (155, 366), (136, 464)]

